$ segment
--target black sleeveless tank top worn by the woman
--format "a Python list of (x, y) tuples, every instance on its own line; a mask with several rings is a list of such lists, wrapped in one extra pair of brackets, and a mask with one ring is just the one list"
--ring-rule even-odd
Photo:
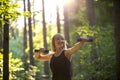
[(52, 71), (52, 80), (71, 80), (71, 62), (62, 51), (59, 56), (52, 56), (50, 68)]

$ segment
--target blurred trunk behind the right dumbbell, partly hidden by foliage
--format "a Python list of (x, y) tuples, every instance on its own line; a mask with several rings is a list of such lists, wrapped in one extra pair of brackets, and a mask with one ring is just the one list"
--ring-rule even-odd
[[(94, 0), (86, 0), (86, 7), (87, 7), (87, 18), (90, 27), (93, 27), (95, 25), (95, 12), (94, 12)], [(96, 43), (92, 42), (92, 52), (91, 52), (91, 64), (95, 66), (94, 70), (98, 70), (96, 65), (98, 65), (98, 62), (96, 61), (98, 58), (97, 51), (96, 51)], [(94, 63), (93, 63), (94, 61)], [(97, 79), (96, 76), (91, 76), (93, 80)]]

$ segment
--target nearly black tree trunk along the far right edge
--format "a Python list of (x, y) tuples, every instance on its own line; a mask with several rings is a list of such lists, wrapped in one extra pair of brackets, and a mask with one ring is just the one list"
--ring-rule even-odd
[(114, 23), (115, 23), (115, 46), (116, 46), (116, 66), (117, 80), (120, 80), (120, 1), (114, 2)]

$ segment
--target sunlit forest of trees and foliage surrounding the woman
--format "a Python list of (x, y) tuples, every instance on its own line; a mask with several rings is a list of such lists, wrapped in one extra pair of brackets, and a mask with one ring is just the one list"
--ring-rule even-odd
[(119, 4), (119, 0), (1, 0), (0, 80), (51, 80), (49, 62), (34, 60), (33, 55), (35, 49), (50, 50), (56, 33), (65, 35), (68, 47), (81, 36), (93, 38), (72, 56), (73, 80), (119, 80)]

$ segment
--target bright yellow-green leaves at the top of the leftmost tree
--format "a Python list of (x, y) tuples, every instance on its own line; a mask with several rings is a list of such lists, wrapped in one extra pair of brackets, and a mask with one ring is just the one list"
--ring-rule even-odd
[(19, 8), (19, 5), (17, 3), (10, 3), (9, 0), (0, 0), (0, 15), (4, 16), (3, 18), (0, 18), (0, 21), (3, 23), (7, 23), (5, 20), (16, 20), (18, 16), (21, 15), (20, 12), (17, 11), (17, 8)]

